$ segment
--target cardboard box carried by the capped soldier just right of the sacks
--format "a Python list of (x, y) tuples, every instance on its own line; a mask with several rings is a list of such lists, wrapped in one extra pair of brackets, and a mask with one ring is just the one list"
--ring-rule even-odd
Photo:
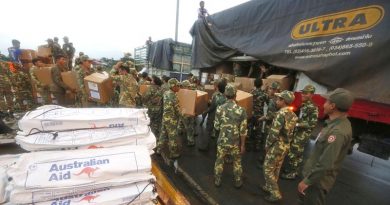
[(209, 96), (199, 90), (180, 89), (177, 93), (180, 112), (185, 115), (198, 116), (207, 110)]

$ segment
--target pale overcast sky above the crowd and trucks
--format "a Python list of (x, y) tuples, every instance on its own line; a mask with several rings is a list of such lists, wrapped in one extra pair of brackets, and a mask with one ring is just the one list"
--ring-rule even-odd
[[(11, 40), (37, 49), (46, 39), (68, 36), (92, 58), (118, 59), (124, 52), (153, 41), (175, 38), (177, 0), (2, 0), (0, 52), (8, 55)], [(248, 0), (205, 0), (210, 14)], [(199, 0), (180, 0), (178, 41), (191, 43)]]

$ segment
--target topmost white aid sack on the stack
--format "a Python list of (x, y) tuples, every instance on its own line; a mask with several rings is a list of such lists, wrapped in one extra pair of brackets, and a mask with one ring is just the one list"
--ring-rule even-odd
[(19, 120), (24, 134), (93, 128), (149, 125), (146, 109), (133, 108), (63, 108), (44, 106), (26, 113)]

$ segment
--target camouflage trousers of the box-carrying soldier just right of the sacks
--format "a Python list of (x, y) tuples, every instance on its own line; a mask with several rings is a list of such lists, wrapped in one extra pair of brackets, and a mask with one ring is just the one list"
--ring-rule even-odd
[(177, 120), (167, 120), (161, 123), (160, 137), (157, 141), (157, 152), (161, 152), (164, 144), (168, 141), (169, 157), (179, 157)]

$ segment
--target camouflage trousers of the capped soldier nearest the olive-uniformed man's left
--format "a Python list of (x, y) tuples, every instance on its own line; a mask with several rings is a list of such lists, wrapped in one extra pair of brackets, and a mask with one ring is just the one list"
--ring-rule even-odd
[(299, 166), (303, 161), (303, 151), (310, 138), (312, 130), (299, 129), (294, 133), (288, 153), (288, 174), (298, 175)]

